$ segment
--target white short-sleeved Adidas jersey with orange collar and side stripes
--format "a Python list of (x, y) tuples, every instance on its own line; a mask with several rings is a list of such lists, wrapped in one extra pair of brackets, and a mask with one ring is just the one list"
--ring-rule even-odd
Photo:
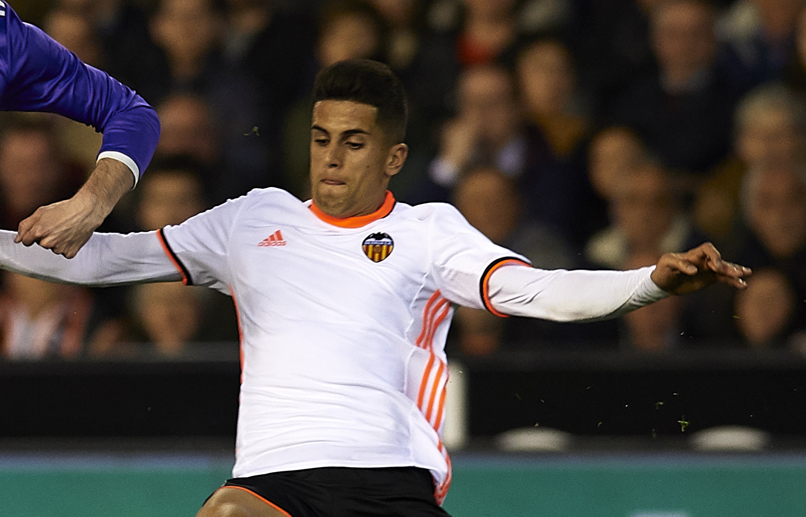
[(453, 206), (395, 203), (332, 219), (253, 190), (164, 228), (188, 283), (230, 292), (243, 380), (233, 476), (450, 461), (444, 352), (453, 305), (482, 308), (485, 269), (513, 253)]

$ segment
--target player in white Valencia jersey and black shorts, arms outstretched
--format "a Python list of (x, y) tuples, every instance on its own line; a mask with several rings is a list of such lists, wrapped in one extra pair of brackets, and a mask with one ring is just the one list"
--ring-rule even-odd
[(446, 515), (443, 351), (455, 305), (587, 321), (750, 270), (710, 244), (632, 271), (546, 271), (453, 206), (395, 202), (405, 94), (386, 67), (319, 73), (313, 199), (274, 188), (159, 231), (94, 234), (72, 261), (0, 232), (0, 267), (110, 286), (182, 280), (232, 295), (242, 383), (233, 478), (198, 517)]

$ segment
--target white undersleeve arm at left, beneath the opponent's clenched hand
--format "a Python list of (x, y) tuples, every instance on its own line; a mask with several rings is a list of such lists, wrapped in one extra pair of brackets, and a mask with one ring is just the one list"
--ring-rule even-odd
[(0, 230), (0, 269), (27, 277), (96, 287), (181, 280), (156, 231), (94, 233), (71, 260), (38, 245), (16, 244), (14, 237)]

